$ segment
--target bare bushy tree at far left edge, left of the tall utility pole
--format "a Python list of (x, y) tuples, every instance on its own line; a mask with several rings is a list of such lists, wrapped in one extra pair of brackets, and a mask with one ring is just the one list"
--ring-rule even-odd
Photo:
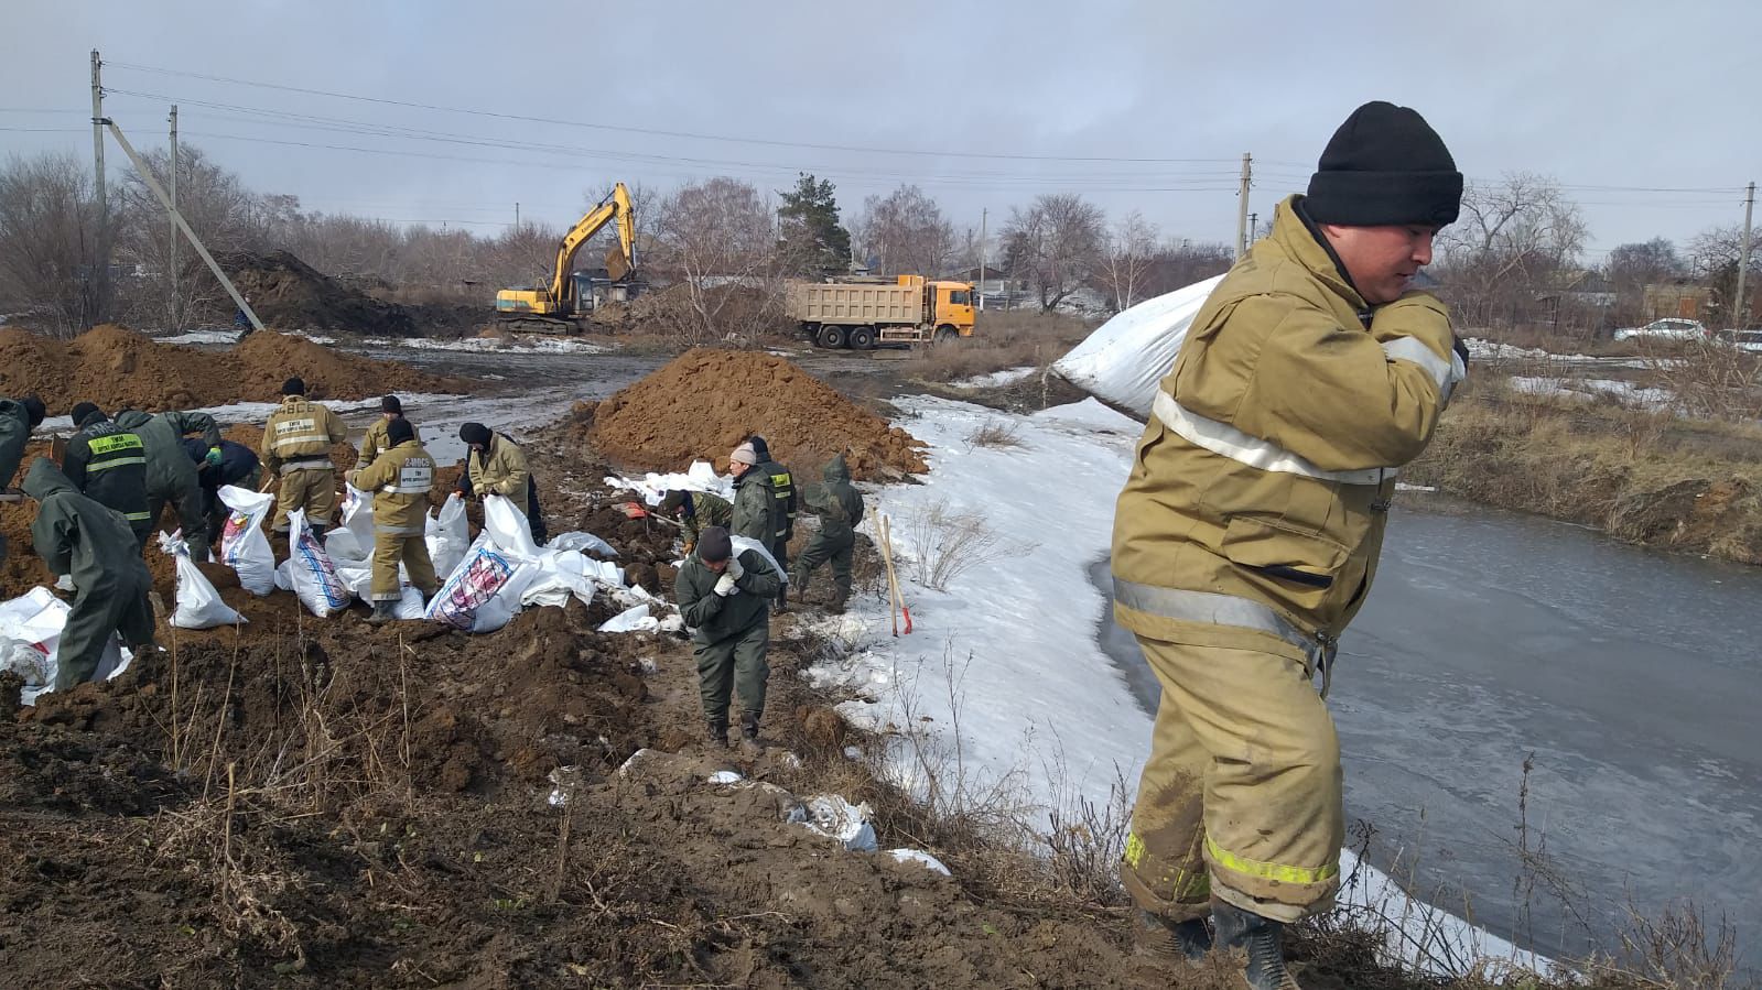
[(0, 298), (58, 333), (104, 317), (99, 208), (90, 169), (67, 153), (12, 157), (0, 169)]

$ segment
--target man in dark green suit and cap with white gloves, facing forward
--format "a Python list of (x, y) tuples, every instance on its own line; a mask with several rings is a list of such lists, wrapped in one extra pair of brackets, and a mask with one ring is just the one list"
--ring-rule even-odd
[(703, 530), (696, 550), (678, 569), (673, 601), (694, 629), (698, 685), (703, 691), (703, 717), (710, 726), (710, 745), (728, 745), (728, 689), (740, 691), (740, 749), (747, 756), (765, 752), (759, 743), (759, 715), (765, 712), (765, 682), (770, 666), (770, 602), (782, 590), (782, 574), (756, 550), (735, 555), (735, 544), (722, 527)]

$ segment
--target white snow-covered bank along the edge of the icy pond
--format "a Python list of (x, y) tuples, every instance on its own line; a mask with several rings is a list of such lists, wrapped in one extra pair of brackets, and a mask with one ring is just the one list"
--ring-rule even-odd
[[(895, 638), (885, 601), (858, 595), (846, 617), (826, 622), (849, 654), (809, 676), (863, 698), (840, 706), (853, 722), (922, 740), (895, 749), (892, 772), (907, 787), (922, 793), (929, 759), (944, 787), (960, 777), (973, 793), (997, 786), (1040, 809), (1108, 807), (1115, 782), (1136, 786), (1152, 722), (1101, 650), (1096, 622), (1108, 602), (1089, 567), (1108, 555), (1114, 500), (1142, 426), (1094, 400), (1033, 416), (927, 396), (895, 405), (900, 426), (929, 444), (930, 472), (923, 484), (870, 488), (862, 528), (876, 539), (879, 518), (892, 523), (913, 632)], [(1013, 432), (1013, 446), (974, 444), (985, 426)], [(946, 590), (929, 588), (934, 536), (971, 532), (971, 520), (992, 543), (969, 544), (969, 565)], [(1346, 853), (1341, 868), (1355, 865)], [(1390, 955), (1526, 958), (1408, 898), (1369, 865), (1355, 875), (1341, 902), (1401, 925), (1406, 935), (1390, 939)]]

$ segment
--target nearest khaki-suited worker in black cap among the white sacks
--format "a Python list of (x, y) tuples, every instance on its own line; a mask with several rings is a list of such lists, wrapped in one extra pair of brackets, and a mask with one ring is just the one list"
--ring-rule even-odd
[(349, 477), (361, 491), (374, 493), (374, 615), (379, 624), (395, 618), (393, 608), (403, 595), (398, 583), (398, 564), (411, 583), (432, 597), (440, 581), (435, 580), (433, 560), (428, 558), (428, 490), (435, 483), (435, 462), (416, 440), (409, 419), (396, 417), (386, 428), (391, 449), (379, 454), (372, 465)]

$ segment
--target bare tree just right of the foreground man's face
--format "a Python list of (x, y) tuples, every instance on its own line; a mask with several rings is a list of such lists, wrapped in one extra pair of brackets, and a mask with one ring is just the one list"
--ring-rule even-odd
[(1588, 236), (1579, 206), (1551, 178), (1510, 173), (1470, 183), (1461, 218), (1438, 236), (1450, 299), (1470, 326), (1514, 322), (1577, 264)]

